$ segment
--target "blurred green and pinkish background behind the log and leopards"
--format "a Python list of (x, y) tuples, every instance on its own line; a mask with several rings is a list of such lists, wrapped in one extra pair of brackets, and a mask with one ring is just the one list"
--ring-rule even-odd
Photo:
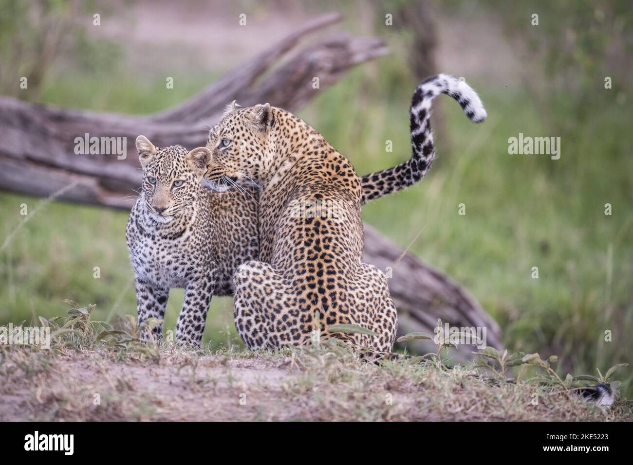
[[(473, 125), (451, 99), (438, 99), (438, 158), (429, 176), (369, 204), (363, 219), (403, 247), (423, 230), (410, 250), (467, 287), (499, 321), (510, 350), (557, 354), (561, 371), (575, 375), (630, 362), (628, 1), (0, 0), (0, 92), (60, 106), (151, 113), (192, 96), (329, 11), (344, 15), (339, 29), (380, 35), (391, 48), (299, 111), (358, 173), (409, 157), (408, 103), (421, 70), (466, 77), (489, 114), (486, 123)], [(408, 11), (425, 13), (423, 27)], [(92, 26), (95, 12), (100, 27)], [(248, 14), (246, 28), (237, 24), (239, 13)], [(535, 13), (538, 25), (532, 25)], [(387, 14), (394, 15), (392, 27), (385, 25)], [(421, 43), (429, 47), (424, 53)], [(420, 55), (431, 58), (420, 64)], [(20, 76), (29, 77), (28, 92), (19, 88)], [(166, 89), (166, 76), (174, 77), (173, 89)], [(518, 133), (560, 137), (561, 158), (508, 154), (508, 138)], [(385, 140), (392, 140), (393, 152), (385, 151)], [(0, 242), (23, 219), (23, 202), (32, 211), (41, 200), (0, 192)], [(465, 216), (458, 215), (460, 203)], [(126, 223), (122, 211), (43, 206), (0, 253), (0, 324), (65, 314), (63, 299), (97, 304), (97, 318), (135, 313)], [(93, 278), (94, 266), (101, 267), (100, 279)], [(533, 266), (539, 279), (531, 277)], [(181, 299), (182, 290), (173, 290), (166, 328), (175, 324)], [(213, 299), (207, 321), (206, 342), (240, 344), (230, 299)], [(605, 342), (606, 330), (612, 342)], [(619, 377), (630, 394), (631, 370)]]

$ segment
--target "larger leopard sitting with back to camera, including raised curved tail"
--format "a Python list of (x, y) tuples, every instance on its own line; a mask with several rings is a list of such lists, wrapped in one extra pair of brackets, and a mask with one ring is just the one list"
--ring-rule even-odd
[(301, 345), (313, 330), (328, 336), (329, 326), (347, 323), (373, 334), (335, 337), (391, 352), (396, 308), (384, 274), (361, 260), (360, 207), (427, 173), (434, 158), (430, 104), (440, 93), (456, 99), (470, 120), (486, 118), (464, 82), (449, 75), (425, 80), (411, 101), (411, 159), (362, 183), (315, 128), (268, 103), (241, 108), (233, 102), (211, 128), (212, 160), (203, 185), (222, 192), (227, 183), (252, 180), (261, 190), (260, 256), (239, 266), (234, 277), (235, 325), (249, 349)]

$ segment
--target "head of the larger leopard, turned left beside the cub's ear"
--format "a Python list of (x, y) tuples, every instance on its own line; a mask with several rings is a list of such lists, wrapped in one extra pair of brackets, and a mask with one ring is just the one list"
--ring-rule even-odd
[(220, 192), (239, 182), (258, 183), (275, 158), (275, 111), (270, 104), (242, 108), (235, 101), (211, 128), (206, 147), (211, 164), (202, 185)]

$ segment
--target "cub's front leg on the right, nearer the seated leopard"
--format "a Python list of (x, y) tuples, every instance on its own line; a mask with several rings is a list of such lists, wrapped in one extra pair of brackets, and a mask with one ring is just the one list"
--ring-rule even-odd
[(178, 344), (200, 346), (215, 282), (215, 270), (200, 273), (187, 282), (182, 311), (176, 323)]

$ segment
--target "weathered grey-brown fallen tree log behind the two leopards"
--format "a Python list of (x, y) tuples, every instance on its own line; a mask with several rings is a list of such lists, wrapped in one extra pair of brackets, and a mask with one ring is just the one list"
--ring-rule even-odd
[[(317, 18), (244, 65), (230, 71), (191, 99), (154, 115), (132, 116), (55, 108), (9, 97), (0, 98), (0, 189), (46, 197), (66, 189), (58, 199), (128, 209), (132, 189), (141, 184), (134, 140), (146, 135), (156, 146), (203, 146), (208, 124), (219, 120), (227, 102), (248, 106), (271, 102), (295, 111), (350, 68), (387, 52), (375, 37), (332, 39), (304, 46), (287, 58), (300, 39), (339, 20)], [(120, 142), (120, 152), (80, 154), (77, 138), (85, 134)], [(430, 332), (438, 317), (454, 326), (486, 326), (489, 345), (499, 347), (499, 328), (463, 288), (366, 226), (365, 259), (385, 270), (394, 268), (390, 287), (401, 317), (401, 330)], [(469, 352), (468, 346), (463, 351)]]

